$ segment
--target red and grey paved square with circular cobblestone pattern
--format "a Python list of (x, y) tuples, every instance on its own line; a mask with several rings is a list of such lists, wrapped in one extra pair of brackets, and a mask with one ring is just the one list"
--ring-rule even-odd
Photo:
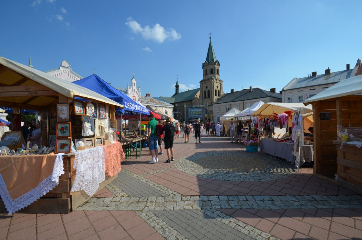
[(122, 162), (71, 214), (1, 215), (0, 239), (361, 239), (362, 196), (223, 137)]

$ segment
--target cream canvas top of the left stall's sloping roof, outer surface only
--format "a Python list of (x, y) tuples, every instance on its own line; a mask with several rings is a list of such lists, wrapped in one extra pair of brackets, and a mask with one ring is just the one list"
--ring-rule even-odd
[(0, 57), (0, 64), (68, 98), (74, 98), (75, 96), (78, 96), (80, 98), (94, 99), (103, 103), (108, 103), (123, 108), (123, 105), (114, 102), (113, 100), (106, 98), (105, 96), (102, 96), (96, 92), (93, 92), (88, 88), (78, 86), (74, 83), (68, 82), (67, 80), (63, 80), (37, 69), (22, 65), (21, 63)]

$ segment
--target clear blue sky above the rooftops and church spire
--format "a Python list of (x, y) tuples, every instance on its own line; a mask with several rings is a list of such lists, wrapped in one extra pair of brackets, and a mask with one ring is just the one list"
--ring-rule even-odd
[(46, 71), (66, 59), (83, 77), (142, 95), (198, 87), (209, 32), (224, 92), (280, 91), (292, 78), (362, 58), (362, 1), (2, 1), (0, 56)]

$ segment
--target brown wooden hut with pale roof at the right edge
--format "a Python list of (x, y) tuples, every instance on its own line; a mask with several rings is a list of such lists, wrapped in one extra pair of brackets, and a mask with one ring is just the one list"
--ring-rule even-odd
[(362, 75), (304, 101), (313, 105), (314, 174), (362, 193)]

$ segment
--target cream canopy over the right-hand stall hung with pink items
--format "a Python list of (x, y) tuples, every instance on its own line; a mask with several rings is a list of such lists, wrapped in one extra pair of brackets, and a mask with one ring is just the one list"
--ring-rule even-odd
[(303, 103), (264, 103), (253, 115), (271, 116), (274, 112), (281, 114), (285, 111), (296, 112), (298, 110), (302, 114), (313, 112), (311, 104), (305, 106)]

